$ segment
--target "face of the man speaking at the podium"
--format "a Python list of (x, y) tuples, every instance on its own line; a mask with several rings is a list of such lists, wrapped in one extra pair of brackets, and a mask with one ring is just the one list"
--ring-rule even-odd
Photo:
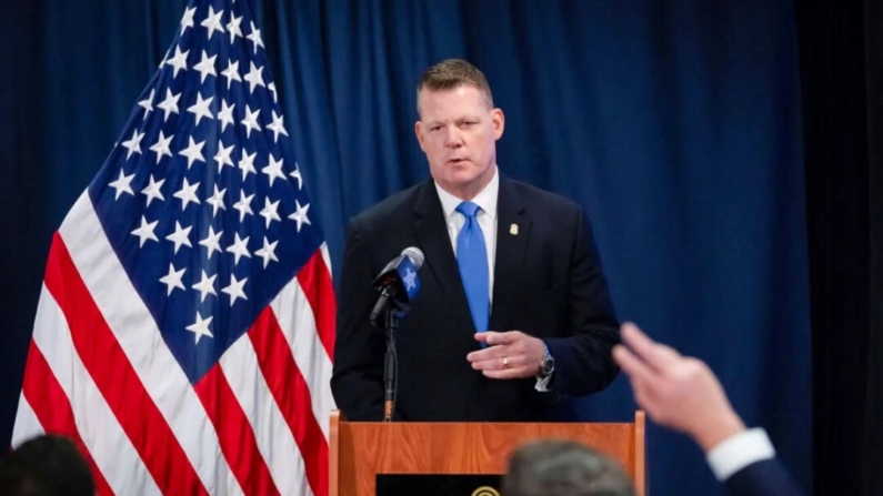
[(491, 109), (472, 85), (423, 90), (414, 125), (430, 174), (449, 193), (471, 200), (493, 178), (496, 140), (503, 135), (503, 112)]

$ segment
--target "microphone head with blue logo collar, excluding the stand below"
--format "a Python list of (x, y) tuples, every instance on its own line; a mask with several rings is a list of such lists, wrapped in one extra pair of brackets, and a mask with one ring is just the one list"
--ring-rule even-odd
[(390, 261), (371, 285), (380, 293), (374, 308), (371, 310), (371, 322), (382, 327), (379, 320), (387, 310), (395, 310), (398, 316), (404, 316), (411, 302), (420, 293), (420, 279), (417, 271), (423, 266), (423, 252), (419, 247), (409, 246), (402, 254)]

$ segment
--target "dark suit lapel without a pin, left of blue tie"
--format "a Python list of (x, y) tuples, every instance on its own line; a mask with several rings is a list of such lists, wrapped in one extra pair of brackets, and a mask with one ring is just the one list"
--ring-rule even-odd
[(415, 234), (420, 249), (425, 255), (424, 265), (429, 266), (446, 296), (449, 312), (474, 330), (466, 293), (451, 247), (448, 223), (432, 180), (424, 182), (420, 188), (414, 203), (414, 217)]

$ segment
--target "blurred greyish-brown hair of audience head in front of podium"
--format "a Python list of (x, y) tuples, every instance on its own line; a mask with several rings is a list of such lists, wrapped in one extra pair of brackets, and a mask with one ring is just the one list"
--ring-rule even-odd
[(634, 496), (634, 485), (609, 456), (570, 441), (536, 441), (509, 458), (502, 496)]

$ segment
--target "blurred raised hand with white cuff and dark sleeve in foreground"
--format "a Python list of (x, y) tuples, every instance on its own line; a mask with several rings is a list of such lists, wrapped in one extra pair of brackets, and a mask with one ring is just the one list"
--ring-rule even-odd
[(658, 424), (693, 438), (729, 494), (802, 494), (766, 433), (745, 428), (705, 363), (654, 343), (631, 323), (622, 326), (622, 341), (613, 355), (629, 375), (638, 404)]

